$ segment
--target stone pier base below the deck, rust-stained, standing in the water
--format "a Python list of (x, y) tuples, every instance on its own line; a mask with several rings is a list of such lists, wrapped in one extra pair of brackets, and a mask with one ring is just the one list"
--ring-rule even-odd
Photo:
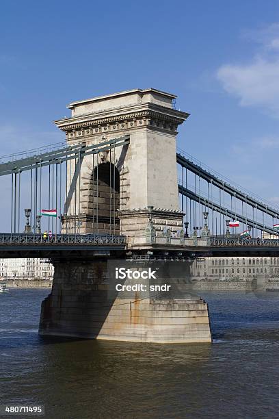
[[(198, 296), (185, 294), (183, 281), (172, 279), (172, 295), (139, 291), (111, 294), (107, 262), (53, 264), (53, 289), (42, 302), (40, 335), (131, 342), (211, 342), (207, 304)], [(134, 268), (139, 270), (136, 262)], [(187, 262), (185, 275), (189, 275)], [(164, 280), (159, 278), (159, 282)], [(148, 285), (149, 280), (142, 283)]]

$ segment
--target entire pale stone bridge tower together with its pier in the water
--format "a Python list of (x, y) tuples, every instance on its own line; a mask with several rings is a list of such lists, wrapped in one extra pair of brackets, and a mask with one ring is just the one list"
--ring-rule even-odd
[[(176, 134), (189, 114), (174, 109), (175, 98), (150, 88), (68, 105), (70, 118), (55, 121), (68, 144), (99, 144), (122, 136), (129, 136), (129, 144), (68, 163), (65, 232), (120, 233), (127, 237), (123, 259), (155, 247), (162, 254), (170, 247), (181, 249), (184, 214), (178, 200)], [(173, 284), (175, 294), (111, 294), (108, 259), (53, 259), (53, 289), (42, 303), (40, 334), (211, 342), (204, 301), (185, 294), (181, 283)], [(138, 268), (135, 263), (133, 270)]]

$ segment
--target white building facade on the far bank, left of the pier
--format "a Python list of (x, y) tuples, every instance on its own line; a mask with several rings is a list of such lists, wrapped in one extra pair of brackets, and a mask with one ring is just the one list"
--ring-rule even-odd
[(48, 259), (1, 259), (0, 279), (46, 280), (53, 278), (53, 265)]

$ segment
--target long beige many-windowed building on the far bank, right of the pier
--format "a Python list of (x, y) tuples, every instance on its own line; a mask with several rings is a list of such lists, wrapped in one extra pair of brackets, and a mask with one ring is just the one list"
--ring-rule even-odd
[(258, 275), (279, 277), (279, 257), (206, 257), (191, 265), (196, 280), (252, 280)]

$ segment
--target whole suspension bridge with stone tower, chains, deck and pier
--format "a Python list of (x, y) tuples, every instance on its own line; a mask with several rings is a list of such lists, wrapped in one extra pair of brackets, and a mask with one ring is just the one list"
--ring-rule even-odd
[[(191, 260), (278, 255), (279, 207), (176, 149), (189, 114), (175, 98), (150, 88), (72, 102), (55, 120), (65, 142), (0, 159), (11, 214), (0, 256), (55, 268), (41, 335), (211, 342), (207, 303), (181, 288)], [(159, 264), (174, 292), (111, 294), (111, 272), (128, 262), (135, 277)]]

